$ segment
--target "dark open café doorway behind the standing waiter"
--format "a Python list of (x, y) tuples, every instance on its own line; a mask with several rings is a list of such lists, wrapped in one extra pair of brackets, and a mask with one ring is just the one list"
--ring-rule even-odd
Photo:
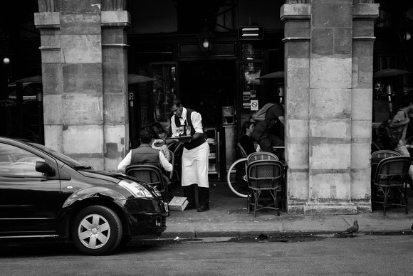
[(181, 61), (179, 73), (179, 100), (201, 113), (204, 131), (211, 136), (210, 175), (224, 180), (232, 163), (227, 156), (235, 150), (236, 122), (224, 125), (222, 110), (236, 106), (236, 60)]

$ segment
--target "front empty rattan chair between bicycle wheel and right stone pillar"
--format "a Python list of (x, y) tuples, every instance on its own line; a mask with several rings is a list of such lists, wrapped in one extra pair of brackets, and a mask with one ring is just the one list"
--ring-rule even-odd
[[(278, 160), (257, 160), (247, 164), (247, 181), (250, 191), (253, 193), (253, 215), (261, 209), (273, 209), (280, 216), (280, 208), (277, 203), (277, 193), (282, 191), (283, 164)], [(268, 191), (271, 195), (271, 203), (262, 205), (259, 199), (262, 191)], [(251, 206), (251, 196), (247, 196), (248, 212)]]

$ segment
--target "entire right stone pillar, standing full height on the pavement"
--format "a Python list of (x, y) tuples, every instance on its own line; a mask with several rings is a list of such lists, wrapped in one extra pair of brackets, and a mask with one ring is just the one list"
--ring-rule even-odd
[[(368, 212), (372, 20), (378, 5), (356, 0), (302, 2), (281, 8), (288, 213)], [(363, 12), (370, 17), (363, 17)], [(364, 31), (364, 36), (353, 38), (353, 29)]]

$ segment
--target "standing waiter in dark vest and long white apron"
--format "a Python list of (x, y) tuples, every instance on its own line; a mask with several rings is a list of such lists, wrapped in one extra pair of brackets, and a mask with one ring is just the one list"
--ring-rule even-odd
[(195, 110), (182, 106), (181, 101), (173, 100), (171, 111), (172, 137), (179, 136), (179, 127), (191, 129), (191, 138), (179, 139), (184, 144), (182, 152), (182, 188), (188, 199), (185, 210), (197, 208), (195, 185), (198, 185), (198, 212), (209, 210), (208, 156), (209, 144), (202, 129), (202, 117)]

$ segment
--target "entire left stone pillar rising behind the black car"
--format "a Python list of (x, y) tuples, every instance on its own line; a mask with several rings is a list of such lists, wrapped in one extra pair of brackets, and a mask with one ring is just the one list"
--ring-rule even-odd
[(105, 170), (116, 169), (128, 137), (123, 28), (130, 16), (120, 11), (123, 4), (113, 3), (39, 0), (35, 14), (41, 30), (45, 144)]

